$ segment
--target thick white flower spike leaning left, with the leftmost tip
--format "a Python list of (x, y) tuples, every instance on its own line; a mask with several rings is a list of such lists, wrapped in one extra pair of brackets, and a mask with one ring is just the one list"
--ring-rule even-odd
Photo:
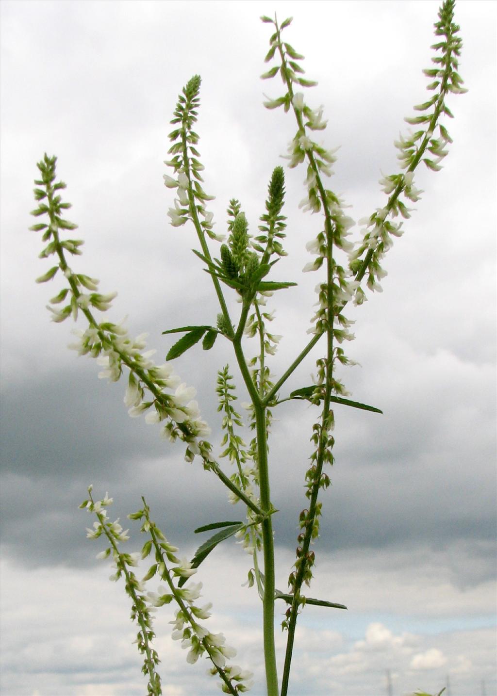
[[(38, 186), (44, 189), (35, 189), (37, 200), (47, 199), (47, 205), (40, 203), (32, 214), (40, 216), (48, 214), (49, 223), (38, 223), (31, 230), (44, 230), (42, 239), (49, 241), (40, 256), (48, 258), (49, 255), (58, 256), (58, 265), (52, 267), (46, 274), (37, 279), (38, 283), (45, 283), (56, 276), (61, 269), (68, 287), (63, 288), (51, 300), (51, 304), (67, 301), (61, 309), (49, 306), (54, 322), (63, 322), (70, 317), (77, 319), (81, 311), (88, 320), (88, 329), (75, 331), (77, 342), (70, 347), (79, 355), (89, 355), (97, 358), (97, 363), (103, 367), (99, 373), (100, 379), (118, 381), (123, 374), (123, 368), (129, 370), (128, 386), (124, 402), (129, 408), (129, 416), (140, 416), (148, 411), (145, 420), (148, 423), (163, 423), (161, 435), (169, 440), (180, 438), (187, 443), (186, 459), (192, 461), (196, 454), (200, 454), (207, 464), (212, 461), (212, 446), (203, 438), (210, 434), (210, 428), (200, 416), (198, 403), (195, 401), (196, 390), (182, 382), (180, 377), (173, 372), (171, 365), (155, 365), (151, 357), (155, 351), (145, 351), (146, 334), (137, 338), (131, 338), (123, 324), (112, 322), (98, 322), (91, 309), (106, 311), (111, 307), (111, 301), (116, 293), (102, 295), (95, 292), (99, 281), (84, 274), (73, 273), (65, 260), (65, 252), (81, 254), (79, 247), (83, 242), (79, 239), (63, 240), (59, 237), (60, 230), (74, 230), (77, 228), (61, 217), (63, 209), (70, 207), (70, 203), (63, 203), (56, 191), (65, 188), (63, 182), (54, 183), (56, 177), (56, 158), (47, 157), (38, 163), (42, 179), (37, 180)], [(82, 292), (81, 287), (93, 290), (90, 294)], [(166, 392), (166, 389), (172, 392)]]

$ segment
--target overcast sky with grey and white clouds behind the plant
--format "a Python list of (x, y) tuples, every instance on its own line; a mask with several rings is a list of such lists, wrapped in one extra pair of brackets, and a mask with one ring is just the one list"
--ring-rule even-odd
[[(161, 331), (214, 321), (210, 278), (191, 253), (193, 230), (171, 228), (173, 195), (162, 175), (167, 134), (182, 86), (203, 78), (198, 133), (216, 231), (239, 198), (251, 230), (267, 182), (294, 124), (262, 107), (269, 28), (258, 17), (294, 16), (287, 29), (319, 86), (324, 142), (341, 145), (333, 190), (354, 219), (384, 205), (381, 172), (397, 172), (393, 140), (404, 116), (425, 101), (438, 4), (427, 1), (114, 1), (1, 3), (1, 290), (3, 676), (6, 696), (134, 696), (145, 692), (123, 587), (86, 540), (90, 517), (77, 509), (86, 487), (113, 496), (122, 519), (147, 498), (182, 555), (198, 525), (233, 519), (217, 480), (182, 446), (130, 420), (123, 383), (97, 379), (89, 358), (67, 349), (70, 322), (49, 321), (45, 304), (59, 280), (47, 269), (33, 223), (33, 179), (43, 152), (58, 156), (70, 219), (85, 239), (73, 266), (118, 291), (109, 318), (127, 316), (132, 335), (149, 332), (157, 363), (171, 347)], [(496, 5), (457, 2), (468, 94), (450, 98), (454, 144), (439, 173), (420, 169), (425, 193), (388, 253), (384, 293), (349, 313), (360, 367), (343, 372), (357, 400), (383, 416), (336, 409), (333, 486), (324, 495), (311, 596), (349, 610), (308, 607), (297, 633), (293, 696), (395, 696), (416, 688), (452, 696), (497, 693), (495, 679), (495, 20)], [(305, 245), (319, 230), (298, 209), (302, 169), (287, 170), (287, 249), (278, 277), (299, 286), (271, 300), (271, 362), (279, 375), (306, 344), (316, 274), (301, 275)], [(355, 230), (358, 238), (358, 228)], [(313, 277), (310, 277), (313, 276)], [(232, 298), (230, 299), (232, 302)], [(233, 301), (231, 306), (236, 310)], [(84, 328), (84, 324), (79, 324)], [(251, 354), (252, 347), (247, 345)], [(319, 347), (288, 389), (310, 383)], [(234, 367), (229, 346), (192, 350), (176, 361), (196, 386), (219, 442), (216, 370)], [(243, 388), (241, 401), (246, 400)], [(271, 444), (277, 586), (293, 562), (305, 507), (303, 473), (315, 412), (282, 404)], [(132, 528), (127, 546), (143, 541)], [(264, 694), (260, 606), (241, 587), (249, 557), (218, 548), (196, 578), (214, 603), (212, 631), (238, 649)], [(155, 587), (151, 587), (155, 589)], [(283, 610), (283, 608), (278, 608)], [(218, 693), (205, 664), (186, 664), (170, 638), (172, 610), (157, 619), (167, 696)], [(283, 638), (278, 634), (283, 655)]]

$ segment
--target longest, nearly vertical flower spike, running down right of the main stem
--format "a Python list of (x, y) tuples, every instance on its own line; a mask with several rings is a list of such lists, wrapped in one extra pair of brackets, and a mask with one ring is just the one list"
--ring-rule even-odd
[(316, 83), (299, 77), (303, 70), (294, 61), (300, 61), (303, 56), (297, 54), (289, 44), (281, 40), (281, 31), (290, 24), (291, 20), (285, 20), (281, 27), (278, 27), (276, 20), (273, 22), (269, 17), (262, 17), (262, 21), (271, 22), (276, 27), (276, 32), (269, 40), (271, 48), (266, 60), (269, 61), (274, 57), (276, 49), (281, 58), (281, 65), (269, 70), (262, 75), (262, 78), (274, 77), (277, 72), (280, 72), (286, 88), (286, 94), (283, 97), (265, 102), (265, 106), (274, 109), (283, 105), (285, 111), (293, 109), (297, 120), (297, 134), (290, 142), (287, 159), (290, 160), (290, 168), (303, 164), (304, 161), (307, 163), (307, 175), (304, 180), (307, 196), (301, 201), (299, 207), (303, 208), (304, 212), (322, 211), (324, 214), (324, 229), (306, 245), (307, 250), (316, 258), (303, 268), (304, 272), (317, 271), (322, 266), (326, 269), (326, 280), (316, 286), (317, 309), (312, 319), (313, 326), (308, 333), (315, 333), (318, 336), (327, 333), (329, 340), (326, 357), (319, 358), (317, 361), (317, 386), (312, 400), (315, 403), (322, 402), (322, 416), (321, 422), (313, 426), (311, 440), (315, 450), (310, 458), (311, 466), (306, 473), (308, 489), (306, 495), (310, 505), (308, 509), (301, 512), (300, 516), (302, 531), (298, 539), (295, 570), (290, 573), (288, 579), (292, 592), (292, 606), (287, 610), (282, 624), (283, 628), (292, 626), (294, 631), (299, 606), (303, 602), (301, 586), (303, 583), (309, 584), (313, 577), (314, 552), (310, 549), (310, 544), (319, 534), (321, 514), (321, 503), (317, 503), (317, 495), (320, 489), (326, 489), (330, 483), (328, 475), (323, 473), (322, 469), (326, 463), (333, 464), (331, 430), (334, 416), (329, 408), (330, 397), (333, 393), (338, 395), (346, 393), (345, 387), (333, 374), (333, 365), (336, 362), (343, 365), (354, 364), (349, 361), (339, 346), (344, 340), (354, 338), (354, 334), (349, 332), (353, 322), (343, 315), (342, 310), (354, 296), (358, 283), (351, 279), (351, 271), (339, 264), (336, 258), (340, 253), (352, 252), (353, 244), (347, 237), (349, 229), (354, 226), (354, 221), (345, 214), (342, 199), (330, 189), (326, 189), (323, 183), (323, 175), (330, 177), (333, 174), (331, 166), (336, 161), (336, 150), (326, 150), (323, 145), (319, 145), (313, 139), (314, 131), (324, 130), (326, 127), (326, 122), (322, 119), (323, 109), (319, 107), (313, 111), (306, 105), (303, 93), (294, 93), (293, 90), (295, 84), (307, 87)]

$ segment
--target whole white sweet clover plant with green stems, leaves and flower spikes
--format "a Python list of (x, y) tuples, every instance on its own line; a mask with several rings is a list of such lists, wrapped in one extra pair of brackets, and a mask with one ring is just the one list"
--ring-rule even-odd
[[(45, 155), (38, 163), (41, 178), (36, 180), (37, 188), (34, 191), (38, 207), (32, 214), (47, 216), (47, 221), (30, 229), (42, 232), (42, 240), (47, 243), (40, 258), (54, 256), (56, 264), (37, 282), (45, 283), (57, 274), (65, 278), (65, 287), (50, 300), (48, 306), (52, 320), (63, 322), (68, 317), (76, 320), (83, 315), (87, 328), (76, 332), (77, 342), (72, 348), (80, 355), (97, 359), (102, 367), (98, 376), (102, 379), (118, 381), (123, 373), (126, 374), (124, 402), (129, 416), (134, 418), (144, 414), (146, 422), (159, 425), (160, 434), (166, 440), (182, 441), (186, 445), (185, 459), (192, 462), (197, 457), (205, 470), (211, 471), (228, 488), (230, 502), (242, 503), (245, 507), (244, 521), (214, 522), (195, 530), (216, 532), (198, 548), (191, 561), (179, 560), (176, 555), (178, 549), (168, 542), (164, 533), (150, 519), (150, 510), (144, 499), (143, 507), (129, 518), (141, 521), (141, 532), (147, 541), (141, 553), (121, 553), (119, 544), (127, 541), (128, 536), (118, 520), (109, 521), (106, 509), (112, 499), (106, 493), (102, 500), (95, 501), (92, 487), (88, 489), (88, 498), (80, 507), (97, 517), (93, 528), (88, 529), (88, 537), (107, 537), (108, 546), (97, 557), (113, 558), (116, 571), (111, 580), (118, 580), (122, 576), (125, 578), (125, 591), (132, 601), (132, 620), (139, 626), (136, 643), (145, 656), (143, 673), (148, 678), (149, 695), (161, 694), (157, 671), (159, 657), (152, 647), (155, 637), (153, 613), (170, 603), (176, 606), (175, 617), (171, 621), (173, 639), (180, 640), (182, 647), (187, 649), (187, 662), (194, 663), (200, 656), (210, 661), (209, 671), (219, 677), (219, 686), (224, 693), (236, 696), (251, 687), (251, 672), (229, 663), (235, 656), (235, 650), (226, 645), (223, 634), (211, 633), (203, 624), (210, 617), (212, 605), (196, 604), (202, 583), (189, 582), (210, 551), (232, 536), (238, 538), (251, 555), (248, 585), (257, 587), (262, 601), (263, 652), (269, 696), (287, 695), (295, 629), (303, 606), (311, 604), (346, 609), (342, 604), (312, 599), (302, 592), (303, 586), (309, 586), (313, 578), (315, 552), (311, 547), (319, 536), (322, 508), (319, 493), (330, 484), (325, 467), (333, 464), (332, 405), (381, 413), (374, 406), (347, 399), (345, 386), (336, 377), (338, 365), (353, 364), (342, 348), (345, 341), (354, 338), (350, 331), (352, 322), (345, 317), (344, 310), (350, 301), (361, 305), (367, 299), (368, 290), (381, 291), (379, 281), (386, 275), (381, 262), (393, 239), (400, 237), (404, 231), (402, 221), (398, 222), (397, 218), (409, 218), (409, 205), (420, 198), (421, 191), (414, 185), (414, 172), (420, 162), (438, 171), (442, 159), (447, 155), (448, 143), (452, 142), (447, 129), (440, 122), (443, 115), (452, 118), (445, 100), (449, 93), (466, 91), (457, 73), (461, 39), (457, 35), (459, 26), (453, 22), (454, 6), (454, 0), (445, 0), (439, 10), (439, 21), (434, 25), (437, 36), (437, 42), (432, 47), (436, 52), (432, 58), (434, 67), (424, 71), (431, 80), (427, 88), (433, 95), (427, 102), (414, 107), (421, 112), (420, 116), (406, 119), (418, 130), (400, 136), (395, 142), (400, 151), (398, 158), (402, 171), (381, 179), (381, 187), (388, 198), (382, 207), (360, 221), (365, 227), (361, 241), (355, 245), (350, 239), (354, 221), (345, 214), (344, 201), (326, 188), (326, 180), (333, 173), (331, 167), (336, 161), (336, 150), (329, 150), (316, 140), (317, 134), (322, 134), (326, 128), (323, 107), (312, 109), (301, 91), (301, 88), (316, 83), (303, 77), (303, 56), (282, 39), (282, 32), (290, 25), (291, 19), (285, 19), (279, 25), (276, 18), (262, 17), (262, 22), (274, 26), (265, 61), (276, 61), (262, 78), (269, 79), (279, 74), (284, 92), (280, 97), (267, 98), (265, 106), (267, 109), (283, 106), (286, 112), (293, 113), (296, 132), (285, 157), (289, 159), (290, 168), (305, 167), (306, 196), (300, 205), (304, 211), (321, 214), (323, 221), (322, 230), (306, 245), (315, 258), (303, 267), (305, 272), (323, 269), (316, 287), (317, 309), (308, 329), (312, 338), (278, 379), (271, 374), (268, 359), (276, 352), (281, 336), (268, 331), (274, 309), (268, 310), (267, 302), (274, 292), (296, 285), (270, 278), (273, 265), (286, 255), (283, 248), (286, 228), (286, 218), (282, 214), (285, 196), (283, 167), (276, 166), (271, 175), (265, 213), (260, 217), (259, 234), (251, 237), (242, 206), (239, 200), (233, 198), (228, 207), (228, 239), (216, 252), (219, 258), (213, 256), (212, 243), (223, 242), (224, 238), (214, 232), (213, 214), (207, 209), (207, 203), (213, 196), (207, 195), (203, 189), (200, 172), (204, 167), (196, 149), (198, 135), (193, 128), (200, 105), (198, 75), (192, 77), (178, 98), (171, 121), (174, 130), (169, 134), (172, 145), (168, 155), (171, 159), (166, 161), (172, 175), (164, 175), (164, 183), (175, 191), (173, 207), (168, 212), (171, 225), (181, 227), (189, 223), (196, 231), (200, 250), (195, 253), (203, 260), (205, 270), (212, 277), (220, 311), (216, 326), (182, 326), (164, 331), (165, 334), (182, 334), (182, 338), (168, 351), (164, 364), (155, 365), (152, 361), (155, 351), (145, 349), (146, 334), (132, 338), (122, 324), (101, 321), (97, 317), (97, 312), (105, 312), (111, 307), (116, 293), (100, 294), (98, 280), (70, 268), (67, 259), (70, 255), (81, 254), (83, 242), (81, 239), (63, 239), (62, 236), (77, 226), (63, 218), (70, 203), (64, 203), (61, 198), (65, 184), (56, 182), (56, 157)], [(228, 310), (225, 292), (234, 292), (240, 303), (235, 321)], [(248, 443), (244, 441), (244, 422), (234, 406), (237, 399), (235, 386), (230, 367), (226, 365), (219, 370), (216, 384), (218, 411), (222, 413), (221, 428), (224, 432), (222, 451), (216, 458), (214, 448), (207, 440), (210, 428), (201, 417), (195, 400), (196, 390), (175, 374), (171, 361), (200, 340), (203, 349), (211, 349), (218, 337), (232, 344), (235, 361), (250, 397), (246, 408), (249, 413), (248, 427), (253, 437)], [(244, 337), (255, 339), (253, 358), (246, 357), (245, 345), (242, 345)], [(321, 339), (324, 351), (317, 360), (315, 383), (281, 397), (280, 390), (285, 381)], [(281, 592), (274, 585), (271, 516), (277, 511), (271, 505), (269, 490), (268, 440), (274, 409), (289, 399), (315, 404), (320, 409), (320, 415), (311, 434), (313, 452), (305, 479), (308, 502), (299, 514), (301, 531), (297, 537), (296, 560), (288, 578), (288, 592)], [(226, 459), (234, 466), (233, 473), (226, 474), (216, 459)], [(152, 565), (139, 580), (132, 569), (139, 560), (150, 555), (153, 557)], [(156, 591), (146, 590), (146, 583), (154, 578), (164, 584), (159, 585)], [(283, 630), (287, 632), (287, 647), (281, 687), (278, 685), (274, 642), (276, 600), (287, 604), (282, 623)], [(427, 696), (423, 692), (418, 692), (418, 695)]]

